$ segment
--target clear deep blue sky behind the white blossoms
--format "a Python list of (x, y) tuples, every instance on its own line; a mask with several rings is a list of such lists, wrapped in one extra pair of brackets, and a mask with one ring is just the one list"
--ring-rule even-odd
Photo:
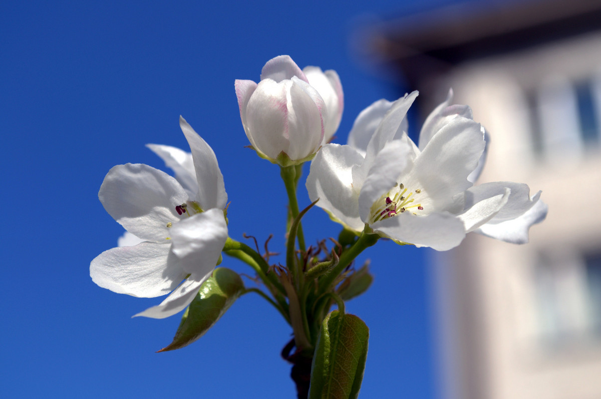
[[(132, 319), (161, 299), (90, 279), (90, 261), (123, 232), (98, 189), (120, 163), (163, 168), (147, 143), (186, 148), (181, 114), (217, 154), (230, 235), (263, 242), (273, 233), (272, 249), (281, 248), (279, 170), (243, 148), (234, 79), (257, 81), (280, 54), (337, 70), (346, 142), (361, 109), (399, 90), (354, 61), (349, 38), (360, 21), (445, 2), (2, 2), (2, 396), (293, 398), (279, 358), (291, 329), (253, 294), (192, 346), (154, 353), (180, 317)], [(337, 236), (321, 210), (306, 220), (309, 241)], [(371, 258), (375, 282), (347, 311), (371, 329), (363, 398), (435, 397), (425, 254), (383, 242), (361, 257)], [(228, 258), (223, 266), (251, 272)]]

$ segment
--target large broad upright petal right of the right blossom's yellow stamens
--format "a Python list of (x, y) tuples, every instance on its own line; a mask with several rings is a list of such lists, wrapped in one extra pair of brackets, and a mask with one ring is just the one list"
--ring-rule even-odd
[(468, 175), (478, 165), (483, 151), (480, 124), (456, 117), (416, 157), (413, 172), (437, 209), (445, 209), (454, 195), (472, 186)]

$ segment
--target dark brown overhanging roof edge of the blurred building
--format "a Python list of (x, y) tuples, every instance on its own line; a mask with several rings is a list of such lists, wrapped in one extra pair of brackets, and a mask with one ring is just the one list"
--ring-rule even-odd
[(466, 2), (365, 29), (361, 52), (376, 63), (423, 54), (460, 62), (601, 28), (601, 0)]

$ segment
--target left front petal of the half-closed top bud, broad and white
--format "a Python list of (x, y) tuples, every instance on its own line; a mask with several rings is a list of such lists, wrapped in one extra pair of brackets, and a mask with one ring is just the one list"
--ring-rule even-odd
[(264, 79), (246, 106), (246, 134), (255, 150), (271, 159), (276, 159), (281, 151), (287, 152), (290, 146), (287, 93), (291, 84)]

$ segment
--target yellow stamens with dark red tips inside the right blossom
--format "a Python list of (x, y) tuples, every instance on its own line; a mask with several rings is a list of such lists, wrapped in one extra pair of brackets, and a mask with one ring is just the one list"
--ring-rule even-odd
[(420, 194), (421, 189), (409, 190), (403, 183), (395, 183), (392, 190), (382, 195), (371, 206), (371, 223), (392, 218), (392, 216), (407, 211), (417, 215), (419, 211), (424, 210), (421, 203), (418, 203)]

